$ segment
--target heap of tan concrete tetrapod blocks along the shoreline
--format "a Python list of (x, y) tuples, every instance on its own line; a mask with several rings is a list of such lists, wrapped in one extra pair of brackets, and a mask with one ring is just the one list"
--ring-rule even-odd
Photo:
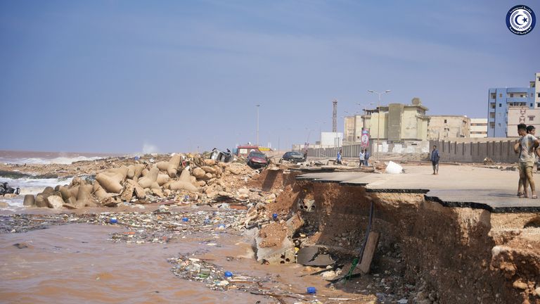
[(186, 158), (177, 153), (169, 161), (103, 170), (94, 182), (75, 177), (69, 185), (48, 187), (35, 198), (26, 196), (25, 205), (49, 208), (115, 206), (133, 198), (144, 200), (149, 195), (163, 198), (179, 191), (200, 190), (213, 198), (219, 191), (230, 190), (221, 177), (248, 172), (250, 169), (243, 164), (222, 163), (200, 156)]

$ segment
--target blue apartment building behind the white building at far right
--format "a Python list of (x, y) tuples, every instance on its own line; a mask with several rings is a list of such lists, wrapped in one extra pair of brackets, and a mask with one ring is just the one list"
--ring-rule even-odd
[(508, 137), (508, 108), (540, 108), (540, 72), (529, 87), (489, 89), (488, 94), (488, 137)]

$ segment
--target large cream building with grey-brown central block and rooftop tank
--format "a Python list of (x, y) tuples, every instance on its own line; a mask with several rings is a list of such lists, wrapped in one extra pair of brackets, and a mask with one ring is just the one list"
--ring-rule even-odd
[(365, 115), (345, 118), (345, 141), (360, 141), (363, 128), (369, 130), (371, 139), (383, 141), (405, 141), (428, 139), (428, 116), (420, 99), (415, 98), (410, 105), (390, 103), (366, 110)]

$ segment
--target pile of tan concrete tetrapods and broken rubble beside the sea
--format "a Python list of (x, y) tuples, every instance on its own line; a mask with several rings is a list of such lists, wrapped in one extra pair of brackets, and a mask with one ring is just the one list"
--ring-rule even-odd
[[(125, 163), (125, 161), (123, 161)], [(117, 163), (111, 163), (117, 165)], [(97, 174), (74, 177), (68, 185), (47, 187), (37, 196), (25, 196), (24, 205), (39, 208), (115, 207), (122, 202), (144, 203), (165, 198), (182, 201), (191, 196), (197, 203), (259, 200), (258, 193), (239, 189), (256, 170), (243, 163), (224, 163), (200, 155), (173, 154), (155, 162), (137, 159), (131, 164), (105, 168)]]

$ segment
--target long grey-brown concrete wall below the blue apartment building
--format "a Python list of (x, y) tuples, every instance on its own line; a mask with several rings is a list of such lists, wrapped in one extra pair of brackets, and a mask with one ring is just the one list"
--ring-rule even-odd
[(442, 162), (482, 163), (484, 158), (491, 158), (496, 163), (515, 163), (518, 161), (518, 154), (513, 149), (515, 141), (516, 139), (484, 142), (431, 140), (430, 147), (437, 146)]

